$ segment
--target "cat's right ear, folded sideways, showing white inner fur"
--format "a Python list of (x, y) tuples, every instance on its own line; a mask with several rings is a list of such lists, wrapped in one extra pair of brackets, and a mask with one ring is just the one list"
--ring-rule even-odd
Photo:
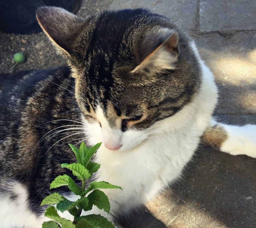
[(138, 65), (132, 73), (175, 69), (180, 54), (179, 34), (174, 29), (152, 28), (140, 36), (135, 52)]

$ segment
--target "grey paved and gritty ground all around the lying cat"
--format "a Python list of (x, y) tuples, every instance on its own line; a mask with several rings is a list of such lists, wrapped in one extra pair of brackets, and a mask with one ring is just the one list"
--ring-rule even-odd
[[(219, 121), (256, 124), (256, 3), (254, 0), (83, 0), (77, 15), (108, 8), (149, 8), (175, 18), (196, 40), (220, 91)], [(43, 33), (0, 33), (0, 73), (11, 72), (12, 55), (27, 62), (15, 71), (49, 68), (65, 61)], [(173, 184), (140, 212), (123, 220), (129, 228), (256, 227), (256, 159), (200, 148)]]

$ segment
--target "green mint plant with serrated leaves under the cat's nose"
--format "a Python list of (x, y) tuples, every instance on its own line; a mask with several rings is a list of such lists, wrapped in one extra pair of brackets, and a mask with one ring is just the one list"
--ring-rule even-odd
[[(56, 208), (54, 206), (50, 206), (46, 209), (44, 215), (54, 221), (44, 222), (42, 227), (58, 228), (60, 225), (62, 228), (114, 228), (115, 226), (103, 216), (94, 214), (81, 216), (82, 210), (89, 211), (92, 209), (93, 205), (109, 213), (110, 204), (108, 197), (99, 189), (122, 189), (119, 186), (111, 185), (105, 181), (91, 182), (89, 187), (85, 189), (85, 180), (88, 180), (92, 174), (97, 172), (100, 168), (100, 164), (90, 160), (93, 154), (97, 152), (97, 149), (100, 147), (101, 143), (98, 143), (91, 148), (88, 148), (84, 143), (82, 143), (79, 149), (72, 144), (68, 145), (75, 153), (77, 163), (63, 163), (61, 164), (61, 168), (71, 170), (73, 175), (81, 180), (82, 187), (77, 185), (70, 176), (64, 174), (56, 177), (52, 181), (50, 189), (66, 185), (73, 193), (79, 195), (80, 198), (73, 202), (66, 199), (59, 193), (52, 193), (46, 196), (42, 201), (41, 206), (56, 205)], [(89, 192), (91, 193), (86, 196)], [(61, 212), (68, 211), (71, 215), (74, 216), (74, 221), (60, 217), (57, 210)]]

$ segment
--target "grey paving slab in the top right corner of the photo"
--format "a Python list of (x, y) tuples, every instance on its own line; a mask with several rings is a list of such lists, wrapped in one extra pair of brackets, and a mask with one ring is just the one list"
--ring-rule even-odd
[(256, 30), (255, 17), (255, 1), (199, 1), (199, 28), (201, 32)]

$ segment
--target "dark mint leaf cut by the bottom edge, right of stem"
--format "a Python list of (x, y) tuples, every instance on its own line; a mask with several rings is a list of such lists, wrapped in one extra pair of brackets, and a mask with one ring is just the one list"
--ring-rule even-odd
[[(93, 227), (93, 228), (115, 228), (115, 226), (108, 221), (108, 219), (106, 219), (103, 216), (100, 215), (87, 215), (87, 216), (81, 216), (77, 218), (78, 222), (81, 221), (81, 225), (76, 224), (76, 228), (84, 228), (84, 227)], [(83, 221), (83, 222), (82, 222)], [(91, 226), (89, 226), (89, 224)], [(82, 226), (84, 225), (84, 226)]]

